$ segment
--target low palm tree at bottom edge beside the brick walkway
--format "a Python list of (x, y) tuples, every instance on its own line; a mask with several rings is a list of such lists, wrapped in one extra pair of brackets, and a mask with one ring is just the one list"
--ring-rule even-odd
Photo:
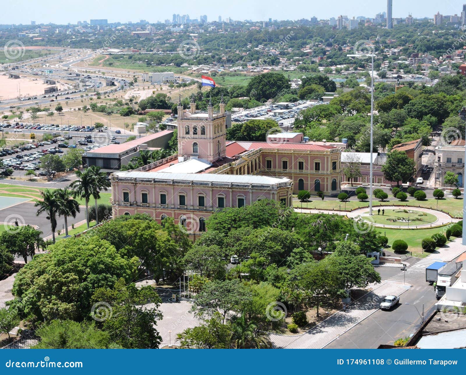
[(269, 347), (266, 334), (258, 328), (254, 321), (248, 321), (244, 314), (241, 314), (233, 321), (232, 340), (237, 349), (264, 348)]

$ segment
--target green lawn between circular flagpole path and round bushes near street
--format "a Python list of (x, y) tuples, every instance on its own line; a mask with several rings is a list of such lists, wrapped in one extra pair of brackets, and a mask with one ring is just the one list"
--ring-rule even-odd
[[(426, 237), (431, 237), (433, 234), (445, 234), (447, 226), (438, 227), (438, 228), (425, 228), (425, 229), (384, 229), (384, 228), (375, 228), (377, 232), (387, 236), (388, 245), (391, 247), (391, 244), (395, 240), (403, 240), (408, 244), (408, 251), (412, 251), (413, 256), (419, 258), (424, 258), (429, 253), (422, 254), (421, 242)], [(451, 237), (455, 239), (455, 237)], [(447, 242), (448, 243), (448, 242)], [(389, 248), (388, 250), (391, 250)]]

